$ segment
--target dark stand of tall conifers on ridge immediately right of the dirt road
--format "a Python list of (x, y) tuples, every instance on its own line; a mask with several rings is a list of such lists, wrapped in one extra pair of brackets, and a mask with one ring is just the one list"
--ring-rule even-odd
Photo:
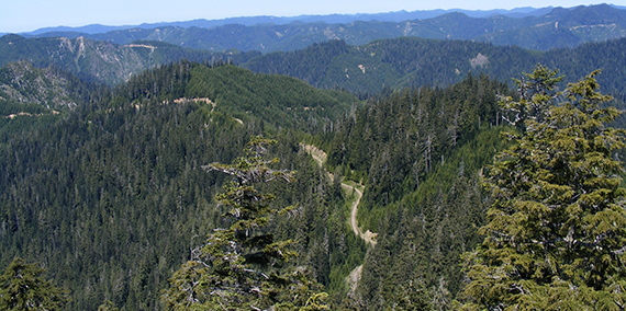
[(480, 128), (498, 126), (498, 95), (507, 93), (503, 83), (470, 76), (447, 89), (405, 89), (371, 100), (337, 122), (328, 163), (371, 183), (368, 203), (396, 200)]

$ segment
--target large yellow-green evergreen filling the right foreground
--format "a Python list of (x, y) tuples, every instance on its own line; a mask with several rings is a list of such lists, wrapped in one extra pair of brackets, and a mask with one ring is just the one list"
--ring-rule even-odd
[(603, 107), (611, 97), (597, 90), (599, 71), (547, 95), (554, 73), (538, 66), (528, 76), (535, 91), (518, 81), (522, 99), (504, 104), (535, 117), (507, 134), (511, 147), (489, 168), (494, 204), (479, 230), (484, 241), (463, 254), (463, 309), (626, 307), (626, 192), (613, 156), (624, 131), (606, 126), (619, 112)]

